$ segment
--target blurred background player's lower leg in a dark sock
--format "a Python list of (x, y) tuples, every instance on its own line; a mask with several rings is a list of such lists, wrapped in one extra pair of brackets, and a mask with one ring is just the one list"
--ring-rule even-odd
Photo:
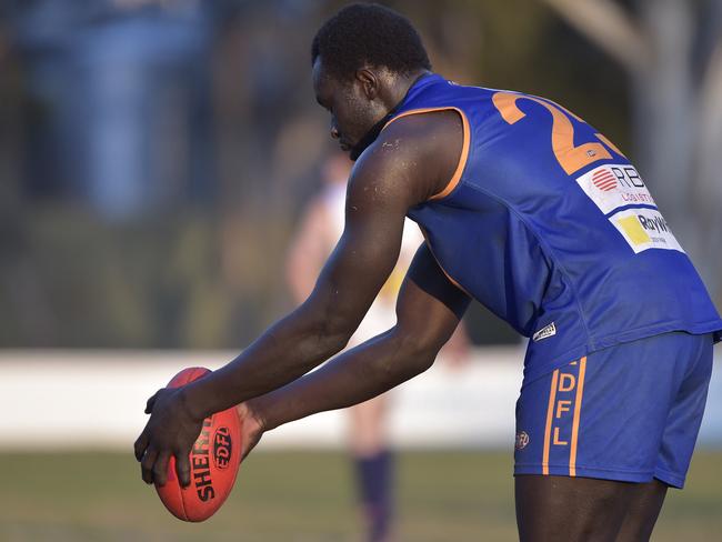
[(368, 540), (388, 540), (393, 515), (393, 455), (385, 434), (387, 397), (350, 409), (350, 444)]

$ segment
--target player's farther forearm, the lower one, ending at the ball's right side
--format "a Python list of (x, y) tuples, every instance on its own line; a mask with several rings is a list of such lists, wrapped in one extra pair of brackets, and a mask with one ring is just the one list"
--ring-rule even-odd
[(425, 371), (438, 351), (391, 330), (318, 371), (252, 400), (249, 408), (262, 420), (264, 430), (270, 430), (318, 412), (351, 406)]

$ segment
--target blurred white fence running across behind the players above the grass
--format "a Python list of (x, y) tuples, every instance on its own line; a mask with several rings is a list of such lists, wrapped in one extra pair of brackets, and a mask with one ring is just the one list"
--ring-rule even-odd
[[(393, 391), (399, 448), (508, 449), (521, 384), (521, 348), (478, 349), (460, 368), (441, 360)], [(0, 450), (126, 450), (146, 400), (180, 369), (217, 368), (233, 352), (6, 351), (0, 354)], [(701, 445), (722, 446), (722, 349), (716, 349)], [(328, 412), (264, 435), (259, 450), (343, 446), (344, 415)]]

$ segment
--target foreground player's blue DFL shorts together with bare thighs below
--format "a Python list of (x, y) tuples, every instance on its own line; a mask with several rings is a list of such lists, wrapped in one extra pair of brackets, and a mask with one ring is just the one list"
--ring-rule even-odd
[[(695, 370), (700, 357), (706, 357), (703, 369)], [(619, 531), (633, 540), (649, 536), (664, 498), (664, 488), (652, 481), (683, 482), (710, 367), (711, 338), (666, 333), (594, 352), (525, 382), (515, 474), (527, 540), (564, 530), (584, 533), (580, 540), (614, 540)], [(680, 390), (696, 372), (689, 387), (693, 408), (682, 409), (686, 419), (673, 416)], [(670, 421), (678, 418), (684, 422)], [(683, 424), (692, 429), (683, 431)]]

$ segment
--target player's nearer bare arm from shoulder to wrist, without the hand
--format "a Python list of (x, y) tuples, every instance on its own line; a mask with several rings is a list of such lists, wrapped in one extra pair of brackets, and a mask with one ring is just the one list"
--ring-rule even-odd
[(393, 269), (404, 214), (421, 197), (391, 158), (371, 155), (357, 165), (344, 232), (305, 302), (231, 363), (185, 388), (195, 415), (279, 388), (345, 347)]

